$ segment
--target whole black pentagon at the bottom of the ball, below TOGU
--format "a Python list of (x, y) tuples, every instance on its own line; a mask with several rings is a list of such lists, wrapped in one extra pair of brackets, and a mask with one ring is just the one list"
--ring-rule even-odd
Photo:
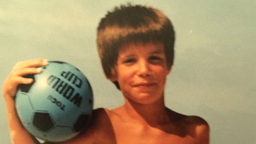
[(33, 117), (33, 125), (39, 130), (47, 132), (54, 127), (54, 122), (48, 112), (35, 112)]

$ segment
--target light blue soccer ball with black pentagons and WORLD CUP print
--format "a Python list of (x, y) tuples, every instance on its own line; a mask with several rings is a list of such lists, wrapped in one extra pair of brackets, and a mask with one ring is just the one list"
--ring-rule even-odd
[(27, 131), (38, 139), (60, 142), (73, 138), (88, 124), (93, 94), (86, 76), (69, 63), (52, 61), (43, 72), (27, 75), (19, 85), (17, 113)]

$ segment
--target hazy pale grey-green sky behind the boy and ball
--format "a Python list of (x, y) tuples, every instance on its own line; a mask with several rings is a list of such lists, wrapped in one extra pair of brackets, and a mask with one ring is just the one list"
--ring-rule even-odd
[[(161, 9), (176, 30), (175, 63), (165, 91), (174, 111), (210, 124), (211, 144), (256, 144), (256, 1), (130, 0)], [(0, 87), (14, 64), (32, 58), (72, 63), (87, 76), (94, 108), (122, 94), (105, 79), (96, 27), (126, 0), (0, 0)], [(0, 97), (0, 143), (10, 144)]]

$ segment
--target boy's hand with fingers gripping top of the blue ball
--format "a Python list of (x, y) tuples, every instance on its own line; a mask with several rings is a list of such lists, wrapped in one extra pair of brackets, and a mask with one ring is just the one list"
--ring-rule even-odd
[(19, 84), (31, 84), (33, 79), (24, 78), (23, 76), (40, 73), (42, 69), (38, 67), (46, 66), (47, 64), (48, 61), (46, 59), (32, 59), (16, 63), (9, 76), (5, 79), (3, 86), (4, 97), (15, 96)]

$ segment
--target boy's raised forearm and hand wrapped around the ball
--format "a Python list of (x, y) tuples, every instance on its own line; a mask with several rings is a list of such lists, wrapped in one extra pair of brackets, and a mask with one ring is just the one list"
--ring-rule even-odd
[(47, 61), (43, 59), (17, 63), (4, 82), (3, 95), (5, 98), (10, 136), (13, 144), (37, 144), (36, 139), (33, 139), (27, 130), (25, 130), (18, 118), (14, 96), (19, 84), (32, 83), (32, 79), (23, 78), (23, 76), (40, 73), (41, 69), (38, 69), (37, 67), (45, 65), (47, 65)]

